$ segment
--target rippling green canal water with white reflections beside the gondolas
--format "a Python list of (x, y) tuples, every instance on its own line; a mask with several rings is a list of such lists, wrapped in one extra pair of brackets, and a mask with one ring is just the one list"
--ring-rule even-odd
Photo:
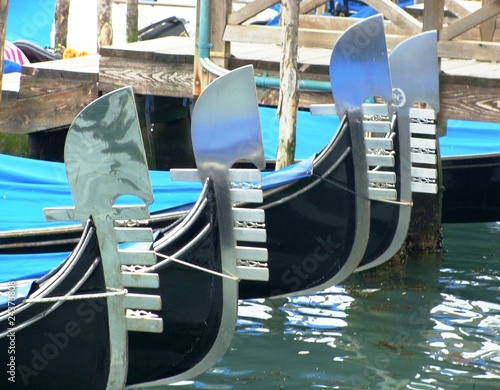
[(230, 350), (177, 389), (500, 389), (500, 223), (314, 295), (239, 305)]

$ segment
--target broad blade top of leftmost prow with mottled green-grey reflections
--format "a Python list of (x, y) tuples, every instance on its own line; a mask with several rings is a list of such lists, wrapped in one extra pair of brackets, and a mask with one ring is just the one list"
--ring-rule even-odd
[(85, 107), (68, 131), (64, 161), (81, 218), (109, 212), (122, 195), (153, 202), (132, 88), (118, 89)]

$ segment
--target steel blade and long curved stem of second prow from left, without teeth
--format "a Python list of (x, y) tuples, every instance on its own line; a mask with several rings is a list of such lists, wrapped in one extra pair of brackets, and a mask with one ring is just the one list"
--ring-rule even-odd
[[(219, 77), (203, 91), (193, 109), (191, 137), (199, 178), (202, 182), (210, 178), (214, 183), (222, 272), (238, 275), (229, 169), (237, 161), (265, 167), (252, 66)], [(222, 286), (222, 318), (210, 352), (190, 372), (172, 380), (200, 374), (229, 347), (238, 316), (238, 285), (223, 278)]]

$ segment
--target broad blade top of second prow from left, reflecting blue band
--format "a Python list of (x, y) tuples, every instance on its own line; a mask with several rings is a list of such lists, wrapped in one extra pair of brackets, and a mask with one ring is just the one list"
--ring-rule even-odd
[(236, 161), (265, 167), (251, 65), (219, 77), (203, 91), (193, 109), (191, 136), (202, 180), (209, 170), (227, 170)]

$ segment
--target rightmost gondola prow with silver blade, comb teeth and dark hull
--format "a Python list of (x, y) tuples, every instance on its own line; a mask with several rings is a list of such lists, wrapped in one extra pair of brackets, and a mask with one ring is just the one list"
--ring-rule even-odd
[[(408, 53), (417, 53), (416, 56)], [(410, 225), (413, 194), (438, 192), (439, 112), (437, 36), (425, 32), (400, 43), (389, 56), (395, 116), (396, 202), (372, 202), (370, 242), (357, 271), (381, 265), (403, 246)], [(426, 108), (416, 108), (416, 104)], [(392, 216), (389, 222), (387, 217)]]

